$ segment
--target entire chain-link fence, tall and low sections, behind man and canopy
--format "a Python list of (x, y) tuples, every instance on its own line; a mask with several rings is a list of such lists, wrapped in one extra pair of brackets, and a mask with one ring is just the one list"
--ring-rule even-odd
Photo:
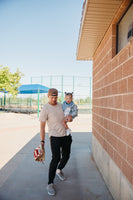
[[(86, 76), (50, 75), (31, 77), (31, 84), (41, 84), (49, 88), (57, 88), (59, 102), (64, 101), (65, 92), (73, 92), (73, 100), (78, 105), (79, 113), (91, 113), (92, 110), (92, 79)], [(15, 112), (34, 113), (41, 110), (48, 102), (47, 94), (23, 95), (12, 98), (8, 94), (0, 97), (0, 108)], [(38, 107), (39, 104), (39, 107)]]

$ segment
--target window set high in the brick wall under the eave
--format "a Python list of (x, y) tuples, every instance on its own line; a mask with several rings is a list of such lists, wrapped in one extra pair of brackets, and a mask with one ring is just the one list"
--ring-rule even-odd
[(133, 3), (117, 24), (117, 53), (133, 37)]

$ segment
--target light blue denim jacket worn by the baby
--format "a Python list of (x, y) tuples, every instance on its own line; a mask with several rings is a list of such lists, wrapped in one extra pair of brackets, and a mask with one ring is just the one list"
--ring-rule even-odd
[(78, 115), (78, 108), (77, 105), (71, 101), (71, 103), (67, 103), (66, 101), (63, 102), (62, 105), (64, 116), (72, 115), (72, 118), (74, 119)]

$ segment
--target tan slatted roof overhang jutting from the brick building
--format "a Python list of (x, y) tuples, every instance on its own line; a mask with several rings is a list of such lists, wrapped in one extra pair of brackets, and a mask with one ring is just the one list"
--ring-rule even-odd
[(77, 60), (93, 60), (94, 53), (123, 0), (85, 0), (80, 24)]

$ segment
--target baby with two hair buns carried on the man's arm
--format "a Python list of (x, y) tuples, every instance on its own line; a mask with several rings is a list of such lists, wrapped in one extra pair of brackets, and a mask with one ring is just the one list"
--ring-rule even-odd
[(73, 102), (73, 92), (65, 92), (65, 101), (63, 102), (62, 108), (64, 112), (64, 120), (62, 123), (66, 128), (66, 134), (70, 135), (71, 129), (69, 129), (67, 122), (71, 122), (78, 115), (77, 105)]

